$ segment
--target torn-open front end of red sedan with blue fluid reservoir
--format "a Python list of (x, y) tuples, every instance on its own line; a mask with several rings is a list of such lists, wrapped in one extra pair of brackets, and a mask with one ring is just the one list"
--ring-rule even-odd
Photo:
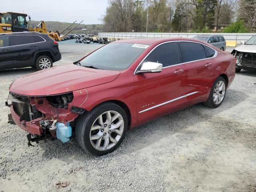
[(75, 119), (84, 109), (72, 106), (73, 92), (51, 96), (23, 96), (10, 92), (8, 123), (28, 132), (30, 142), (59, 139), (68, 142), (74, 134)]

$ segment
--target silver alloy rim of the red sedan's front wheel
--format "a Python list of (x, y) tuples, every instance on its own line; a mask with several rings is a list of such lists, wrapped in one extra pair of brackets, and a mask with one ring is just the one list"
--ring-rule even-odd
[(114, 147), (124, 131), (124, 119), (116, 111), (102, 113), (90, 130), (90, 142), (96, 150), (105, 151)]

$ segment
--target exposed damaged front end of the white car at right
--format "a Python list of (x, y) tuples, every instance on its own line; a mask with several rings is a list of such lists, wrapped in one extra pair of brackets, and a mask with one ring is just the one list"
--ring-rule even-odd
[(256, 70), (256, 53), (233, 50), (231, 54), (236, 58), (236, 68)]

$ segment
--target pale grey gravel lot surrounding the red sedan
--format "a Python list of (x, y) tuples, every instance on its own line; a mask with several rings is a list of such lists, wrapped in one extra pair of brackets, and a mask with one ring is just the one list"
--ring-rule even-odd
[[(62, 65), (98, 44), (60, 42)], [(216, 109), (202, 104), (128, 131), (112, 154), (95, 157), (78, 146), (40, 142), (7, 124), (10, 83), (32, 68), (0, 72), (0, 192), (256, 191), (256, 72), (242, 70)]]

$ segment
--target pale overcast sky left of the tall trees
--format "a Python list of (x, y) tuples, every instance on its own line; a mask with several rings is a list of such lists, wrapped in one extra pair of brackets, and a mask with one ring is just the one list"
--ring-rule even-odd
[(31, 20), (101, 24), (108, 0), (1, 0), (0, 12), (26, 13)]

